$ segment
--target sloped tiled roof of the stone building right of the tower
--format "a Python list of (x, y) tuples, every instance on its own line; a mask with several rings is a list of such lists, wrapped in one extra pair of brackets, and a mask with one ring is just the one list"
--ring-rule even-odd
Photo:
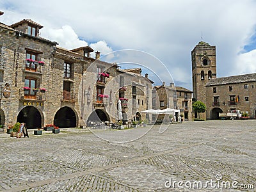
[(219, 85), (219, 84), (232, 84), (232, 83), (246, 83), (246, 82), (252, 82), (252, 81), (256, 81), (256, 73), (210, 79), (205, 84), (205, 86), (213, 86), (213, 85)]

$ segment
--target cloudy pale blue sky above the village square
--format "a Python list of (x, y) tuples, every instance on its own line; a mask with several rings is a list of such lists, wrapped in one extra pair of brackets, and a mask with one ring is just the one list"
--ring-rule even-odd
[[(32, 19), (44, 26), (42, 37), (66, 49), (147, 52), (166, 66), (176, 85), (189, 89), (191, 51), (202, 36), (216, 45), (218, 77), (256, 72), (255, 0), (7, 0), (0, 8), (0, 22)], [(172, 81), (164, 68), (152, 70)]]

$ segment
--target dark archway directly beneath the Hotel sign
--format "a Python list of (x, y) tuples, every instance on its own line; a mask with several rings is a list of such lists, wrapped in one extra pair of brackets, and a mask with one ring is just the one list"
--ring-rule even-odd
[(42, 116), (33, 106), (23, 108), (17, 116), (17, 122), (25, 123), (28, 129), (42, 128)]

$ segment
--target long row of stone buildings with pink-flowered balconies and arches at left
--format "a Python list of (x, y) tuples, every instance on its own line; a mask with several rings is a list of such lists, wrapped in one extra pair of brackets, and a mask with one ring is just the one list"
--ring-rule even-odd
[(90, 58), (91, 47), (57, 47), (39, 36), (41, 28), (29, 19), (0, 23), (1, 125), (81, 127), (93, 114), (117, 120), (118, 99), (124, 120), (145, 118), (140, 111), (152, 106), (152, 81), (100, 61), (100, 52)]

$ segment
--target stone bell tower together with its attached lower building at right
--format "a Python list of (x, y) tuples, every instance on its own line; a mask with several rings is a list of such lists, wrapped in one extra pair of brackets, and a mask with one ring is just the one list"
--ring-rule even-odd
[[(206, 119), (218, 119), (218, 113), (241, 110), (251, 118), (256, 114), (256, 75), (216, 77), (216, 47), (199, 42), (191, 52), (193, 97), (206, 105)], [(195, 113), (195, 118), (197, 114)]]

